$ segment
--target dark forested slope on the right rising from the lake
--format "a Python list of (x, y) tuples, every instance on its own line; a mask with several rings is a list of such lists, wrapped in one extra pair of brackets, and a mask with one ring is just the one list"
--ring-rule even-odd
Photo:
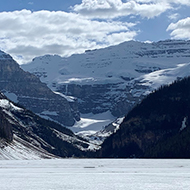
[(190, 158), (190, 77), (150, 94), (107, 138), (101, 157)]

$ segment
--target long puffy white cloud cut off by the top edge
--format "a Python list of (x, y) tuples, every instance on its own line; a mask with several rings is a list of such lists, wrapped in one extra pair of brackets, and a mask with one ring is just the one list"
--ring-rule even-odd
[(75, 5), (73, 10), (84, 16), (94, 18), (114, 18), (119, 16), (140, 15), (153, 18), (171, 9), (165, 1), (130, 0), (123, 3), (121, 0), (83, 0)]

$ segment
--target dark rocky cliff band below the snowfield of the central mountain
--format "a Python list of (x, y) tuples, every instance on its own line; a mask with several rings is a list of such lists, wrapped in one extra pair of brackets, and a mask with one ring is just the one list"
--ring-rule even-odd
[[(130, 94), (127, 95), (126, 89), (120, 89), (119, 86), (120, 83), (94, 85), (68, 84), (59, 86), (57, 91), (67, 96), (77, 97), (80, 113), (99, 114), (111, 111), (114, 116), (120, 117), (131, 109), (135, 98), (130, 96)], [(121, 94), (126, 95), (125, 97), (121, 97)], [(131, 101), (131, 105), (129, 105), (129, 101)]]

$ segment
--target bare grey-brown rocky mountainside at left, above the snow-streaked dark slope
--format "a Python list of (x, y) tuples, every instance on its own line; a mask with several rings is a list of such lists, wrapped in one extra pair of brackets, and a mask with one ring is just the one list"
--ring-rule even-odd
[(63, 125), (72, 126), (80, 119), (75, 100), (69, 103), (53, 93), (46, 84), (23, 71), (11, 56), (1, 51), (0, 90), (12, 101)]

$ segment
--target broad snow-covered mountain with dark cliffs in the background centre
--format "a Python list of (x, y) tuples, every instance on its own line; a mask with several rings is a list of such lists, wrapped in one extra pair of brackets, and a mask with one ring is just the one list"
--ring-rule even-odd
[[(45, 55), (21, 67), (69, 101), (77, 99), (82, 119), (106, 113), (104, 121), (111, 122), (160, 85), (190, 75), (189, 62), (190, 41), (129, 41), (68, 58)], [(76, 125), (86, 133), (87, 128)]]

